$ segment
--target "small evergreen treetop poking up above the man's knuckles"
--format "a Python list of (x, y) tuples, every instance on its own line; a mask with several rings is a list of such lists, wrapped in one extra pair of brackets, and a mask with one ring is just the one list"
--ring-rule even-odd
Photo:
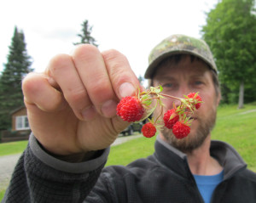
[(82, 26), (82, 33), (78, 34), (78, 37), (81, 38), (80, 42), (73, 43), (74, 45), (81, 44), (81, 43), (89, 43), (93, 44), (94, 46), (98, 47), (96, 44), (96, 40), (94, 37), (91, 37), (91, 30), (92, 26), (89, 25), (88, 20), (84, 20), (84, 22), (81, 24)]

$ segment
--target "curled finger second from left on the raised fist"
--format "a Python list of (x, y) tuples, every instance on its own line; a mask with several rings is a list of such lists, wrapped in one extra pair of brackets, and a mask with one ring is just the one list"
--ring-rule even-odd
[[(64, 98), (80, 120), (90, 120), (96, 115), (71, 56), (56, 55), (50, 60), (46, 74), (61, 88)], [(83, 113), (85, 111), (86, 114)]]

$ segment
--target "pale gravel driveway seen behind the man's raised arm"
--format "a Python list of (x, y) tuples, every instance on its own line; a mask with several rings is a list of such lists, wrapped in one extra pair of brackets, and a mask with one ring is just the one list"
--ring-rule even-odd
[[(119, 137), (114, 141), (112, 145), (114, 146), (122, 144), (128, 140), (138, 138), (140, 136), (141, 135)], [(8, 187), (9, 180), (11, 178), (12, 173), (14, 172), (15, 165), (18, 159), (20, 158), (20, 155), (21, 154), (0, 156), (0, 191)]]

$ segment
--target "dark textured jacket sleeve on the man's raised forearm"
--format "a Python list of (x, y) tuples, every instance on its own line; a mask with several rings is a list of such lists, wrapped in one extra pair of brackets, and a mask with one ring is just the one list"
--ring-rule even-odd
[(83, 202), (102, 172), (108, 153), (109, 148), (90, 161), (61, 161), (47, 154), (31, 135), (2, 202)]

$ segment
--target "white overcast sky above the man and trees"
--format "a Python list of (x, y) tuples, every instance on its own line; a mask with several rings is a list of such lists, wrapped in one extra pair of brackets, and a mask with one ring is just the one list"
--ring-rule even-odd
[(24, 31), (32, 68), (44, 71), (55, 54), (70, 54), (81, 24), (89, 20), (101, 51), (125, 54), (143, 76), (148, 54), (172, 34), (201, 37), (206, 12), (218, 0), (8, 0), (0, 1), (0, 71), (7, 61), (15, 25)]

